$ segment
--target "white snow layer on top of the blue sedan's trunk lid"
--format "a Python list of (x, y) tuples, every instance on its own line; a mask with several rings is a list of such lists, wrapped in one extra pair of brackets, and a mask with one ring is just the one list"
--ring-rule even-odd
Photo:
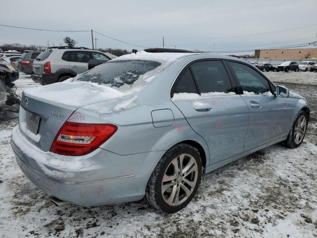
[(77, 108), (125, 95), (111, 87), (82, 81), (54, 83), (26, 89), (24, 93), (26, 96), (41, 101), (45, 100)]

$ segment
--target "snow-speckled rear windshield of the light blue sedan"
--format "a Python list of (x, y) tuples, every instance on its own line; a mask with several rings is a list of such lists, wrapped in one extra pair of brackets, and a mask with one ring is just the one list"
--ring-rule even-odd
[(132, 84), (143, 74), (154, 70), (160, 62), (150, 60), (117, 60), (103, 63), (76, 77), (78, 81), (107, 84), (120, 88)]

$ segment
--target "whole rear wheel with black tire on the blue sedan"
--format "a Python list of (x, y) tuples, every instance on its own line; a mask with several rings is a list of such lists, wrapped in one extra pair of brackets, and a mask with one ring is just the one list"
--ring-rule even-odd
[[(180, 165), (181, 158), (183, 163)], [(190, 169), (190, 174), (186, 172)], [(151, 206), (159, 211), (174, 213), (184, 208), (195, 196), (202, 179), (203, 166), (198, 150), (188, 144), (177, 144), (170, 148), (159, 160), (146, 188), (146, 198)], [(182, 175), (184, 175), (182, 177)], [(177, 175), (177, 176), (175, 176)], [(165, 178), (163, 181), (163, 178)], [(188, 183), (186, 182), (188, 181)], [(190, 183), (191, 184), (190, 184)], [(164, 187), (163, 187), (164, 184)], [(187, 191), (185, 191), (187, 188)], [(176, 194), (180, 194), (177, 196)], [(175, 196), (176, 195), (176, 196)]]

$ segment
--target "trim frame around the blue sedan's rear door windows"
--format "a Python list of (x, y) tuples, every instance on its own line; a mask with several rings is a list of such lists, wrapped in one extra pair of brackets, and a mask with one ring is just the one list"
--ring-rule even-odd
[[(233, 86), (232, 80), (231, 80), (231, 78), (230, 78), (230, 75), (229, 75), (229, 73), (228, 73), (228, 70), (227, 70), (227, 68), (225, 67), (225, 63), (223, 62), (224, 60), (223, 60), (222, 58), (199, 58), (199, 59), (194, 59), (194, 60), (191, 60), (191, 61), (187, 62), (187, 64), (185, 64), (185, 65), (182, 67), (182, 69), (178, 72), (176, 78), (174, 79), (174, 81), (173, 81), (173, 83), (172, 83), (172, 86), (171, 86), (170, 89), (169, 89), (169, 96), (170, 96), (170, 98), (172, 98), (173, 95), (174, 95), (174, 89), (175, 89), (175, 87), (176, 87), (176, 84), (177, 84), (179, 78), (181, 77), (181, 75), (183, 75), (183, 73), (186, 71), (186, 69), (187, 69), (188, 67), (189, 67), (190, 72), (191, 72), (191, 74), (192, 74), (192, 77), (193, 77), (193, 79), (194, 79), (194, 82), (195, 82), (195, 85), (196, 85), (196, 88), (197, 88), (197, 92), (198, 92), (199, 95), (201, 95), (201, 92), (200, 92), (199, 87), (198, 87), (198, 83), (197, 83), (197, 81), (196, 81), (196, 79), (195, 79), (195, 77), (194, 77), (194, 74), (193, 74), (193, 72), (192, 72), (192, 70), (191, 70), (191, 68), (190, 68), (190, 66), (191, 66), (192, 64), (194, 64), (194, 63), (196, 63), (196, 62), (200, 62), (200, 61), (220, 61), (220, 62), (222, 63), (222, 65), (223, 65), (223, 67), (224, 67), (226, 73), (227, 73), (228, 78), (229, 78), (229, 81), (230, 81), (230, 84), (231, 84), (231, 89), (232, 89), (232, 91), (233, 91), (234, 93), (236, 93), (235, 90), (234, 90), (234, 86)], [(236, 94), (237, 94), (237, 93), (236, 93)], [(235, 95), (228, 95), (228, 96), (235, 96)], [(216, 96), (216, 97), (218, 97), (218, 96)], [(227, 97), (227, 96), (221, 96), (221, 97)]]

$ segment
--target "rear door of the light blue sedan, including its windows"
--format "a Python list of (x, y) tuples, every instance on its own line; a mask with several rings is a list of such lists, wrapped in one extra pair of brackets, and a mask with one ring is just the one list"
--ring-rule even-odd
[(207, 142), (211, 164), (243, 152), (248, 107), (221, 60), (191, 63), (174, 85), (172, 101)]

